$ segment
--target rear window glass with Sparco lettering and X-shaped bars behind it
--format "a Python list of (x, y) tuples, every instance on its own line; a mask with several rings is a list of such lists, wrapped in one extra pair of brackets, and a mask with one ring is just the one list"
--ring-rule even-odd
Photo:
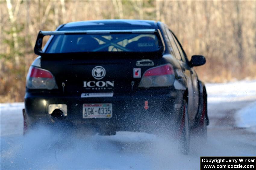
[(45, 53), (155, 52), (160, 45), (155, 34), (67, 34), (55, 35)]

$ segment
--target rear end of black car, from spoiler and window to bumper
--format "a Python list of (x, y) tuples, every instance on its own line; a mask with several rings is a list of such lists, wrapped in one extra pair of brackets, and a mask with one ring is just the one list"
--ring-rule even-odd
[[(27, 75), (27, 124), (65, 122), (114, 134), (154, 133), (180, 121), (183, 93), (162, 57), (161, 31), (103, 28), (39, 32), (35, 52), (41, 57)], [(52, 37), (41, 50), (45, 35)]]

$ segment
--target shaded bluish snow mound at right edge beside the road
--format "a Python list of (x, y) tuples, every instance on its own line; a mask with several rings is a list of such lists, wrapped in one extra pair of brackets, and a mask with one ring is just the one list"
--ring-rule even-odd
[(256, 133), (256, 102), (236, 112), (236, 126)]

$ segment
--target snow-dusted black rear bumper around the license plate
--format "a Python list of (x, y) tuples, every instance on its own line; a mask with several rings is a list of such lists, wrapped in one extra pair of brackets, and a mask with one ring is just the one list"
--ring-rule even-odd
[[(172, 91), (169, 94), (125, 95), (114, 97), (81, 98), (52, 94), (25, 94), (25, 109), (30, 124), (55, 122), (48, 113), (50, 104), (66, 104), (67, 116), (63, 121), (74, 126), (90, 126), (100, 128), (112, 126), (118, 130), (145, 131), (153, 125), (177, 124), (179, 122), (180, 105), (183, 91)], [(144, 108), (148, 101), (148, 109)], [(112, 103), (112, 118), (83, 119), (84, 103)]]

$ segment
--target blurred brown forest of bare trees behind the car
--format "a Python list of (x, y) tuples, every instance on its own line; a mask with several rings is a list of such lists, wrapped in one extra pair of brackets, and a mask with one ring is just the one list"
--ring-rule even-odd
[(206, 82), (255, 79), (256, 1), (0, 1), (0, 102), (23, 101), (39, 30), (93, 19), (149, 19), (166, 23)]

